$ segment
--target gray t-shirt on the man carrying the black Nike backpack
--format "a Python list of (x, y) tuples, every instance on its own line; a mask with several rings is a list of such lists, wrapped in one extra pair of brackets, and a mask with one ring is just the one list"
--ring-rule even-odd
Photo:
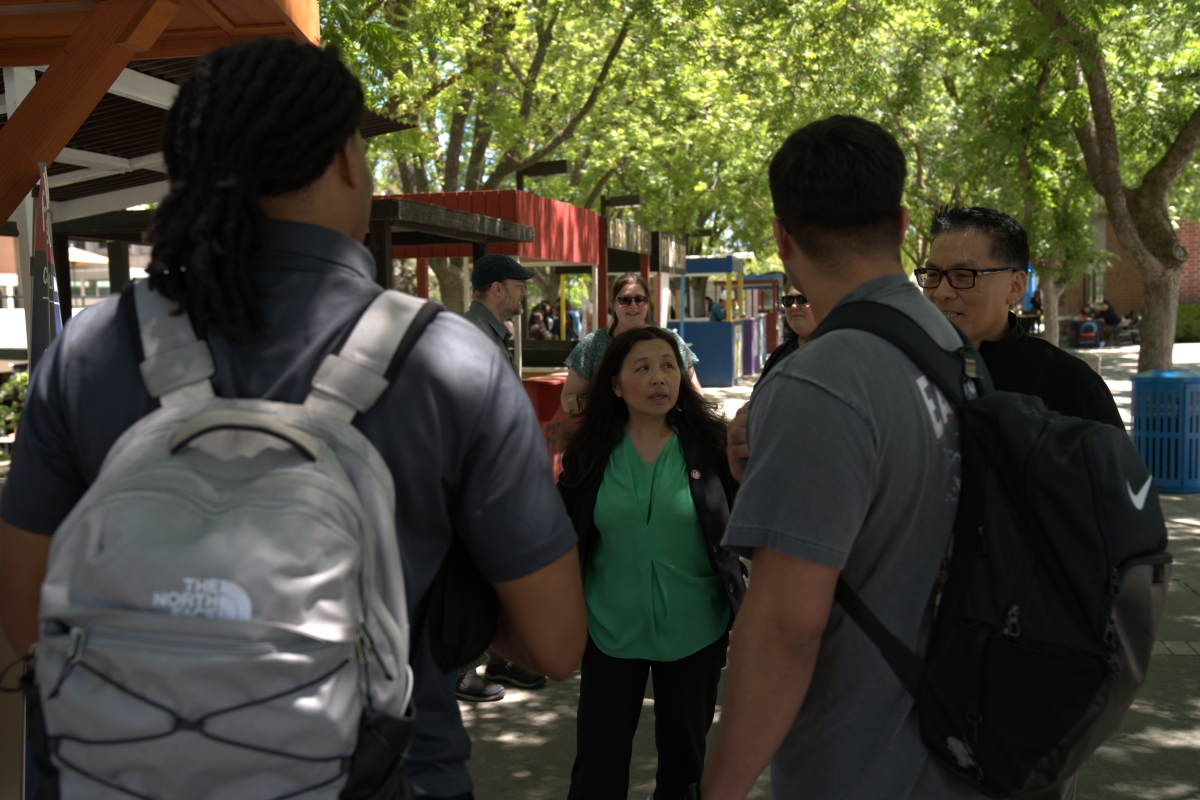
[[(894, 306), (943, 348), (960, 347), (904, 275), (841, 302), (854, 300)], [(841, 570), (888, 628), (923, 652), (958, 507), (953, 407), (898, 348), (841, 330), (809, 342), (756, 387), (748, 433), (751, 457), (725, 545)], [(925, 750), (912, 699), (836, 603), (770, 780), (776, 798), (979, 796)]]

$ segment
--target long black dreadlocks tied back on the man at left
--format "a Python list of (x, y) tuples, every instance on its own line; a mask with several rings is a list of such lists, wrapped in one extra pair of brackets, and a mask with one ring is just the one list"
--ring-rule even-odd
[(202, 58), (167, 114), (170, 191), (155, 213), (150, 288), (200, 336), (266, 336), (254, 270), (266, 258), (260, 197), (308, 186), (362, 125), (362, 86), (335, 48), (264, 37)]

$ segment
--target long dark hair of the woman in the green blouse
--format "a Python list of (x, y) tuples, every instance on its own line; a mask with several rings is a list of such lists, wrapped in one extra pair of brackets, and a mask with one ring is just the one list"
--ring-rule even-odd
[(608, 455), (620, 443), (625, 422), (629, 421), (629, 407), (612, 391), (612, 379), (620, 373), (634, 345), (650, 339), (670, 344), (679, 368), (679, 401), (667, 411), (667, 425), (673, 428), (686, 427), (700, 439), (701, 446), (724, 457), (725, 417), (688, 379), (676, 337), (670, 331), (648, 325), (625, 331), (612, 341), (592, 377), (592, 389), (580, 395), (582, 410), (575, 417), (575, 428), (566, 435), (566, 447), (563, 450), (560, 480), (564, 486), (577, 488), (604, 474)]

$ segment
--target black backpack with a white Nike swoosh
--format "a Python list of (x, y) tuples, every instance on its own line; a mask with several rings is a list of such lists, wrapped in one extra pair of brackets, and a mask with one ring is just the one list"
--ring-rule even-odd
[(955, 405), (962, 485), (924, 660), (845, 581), (835, 597), (950, 771), (991, 798), (1057, 786), (1146, 679), (1171, 571), (1153, 479), (1124, 431), (992, 391), (966, 337), (942, 350), (895, 308), (852, 302), (812, 338), (847, 327), (900, 348)]

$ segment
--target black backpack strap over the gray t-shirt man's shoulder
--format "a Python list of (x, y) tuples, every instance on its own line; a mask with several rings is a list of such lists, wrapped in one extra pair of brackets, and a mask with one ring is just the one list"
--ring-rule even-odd
[(955, 327), (962, 347), (943, 350), (918, 323), (899, 308), (886, 303), (860, 300), (834, 308), (821, 320), (809, 339), (841, 329), (875, 333), (900, 348), (912, 359), (947, 399), (962, 407), (968, 397), (990, 392), (991, 377), (971, 339)]

